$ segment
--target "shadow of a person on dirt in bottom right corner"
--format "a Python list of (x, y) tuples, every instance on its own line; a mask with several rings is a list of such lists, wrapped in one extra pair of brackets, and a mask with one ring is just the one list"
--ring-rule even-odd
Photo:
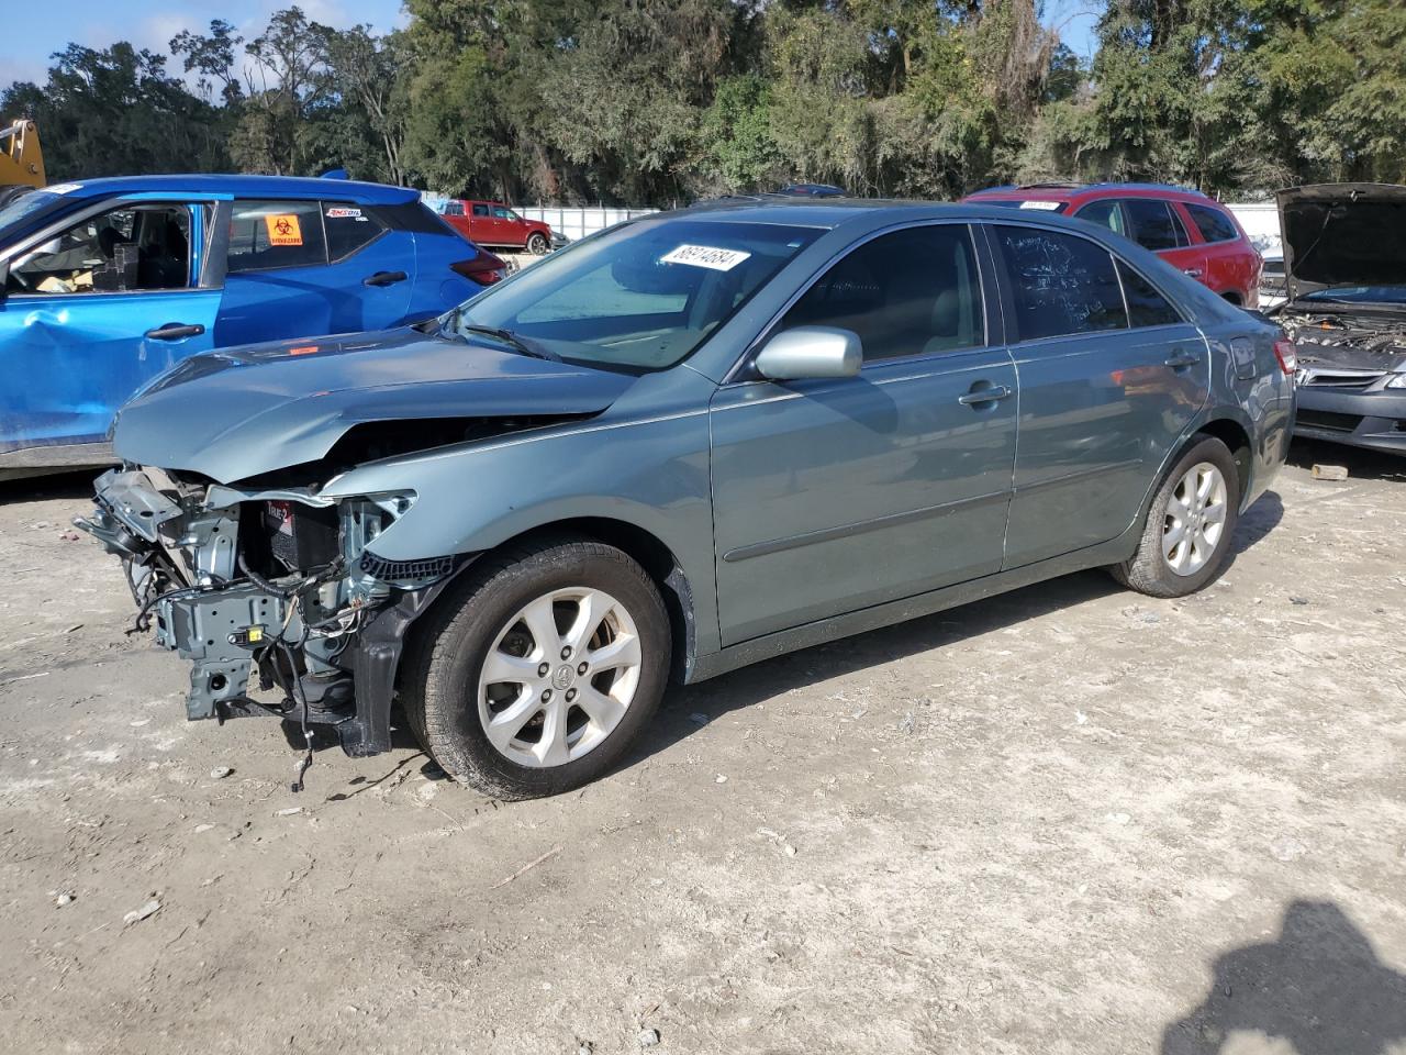
[(1391, 1055), (1406, 1045), (1406, 975), (1376, 958), (1331, 902), (1294, 902), (1275, 941), (1213, 965), (1201, 1006), (1167, 1027), (1161, 1055), (1218, 1055), (1258, 1032), (1296, 1055)]

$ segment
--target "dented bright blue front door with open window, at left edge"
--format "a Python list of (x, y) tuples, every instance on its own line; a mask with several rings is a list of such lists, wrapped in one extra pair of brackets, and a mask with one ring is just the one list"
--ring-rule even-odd
[(4, 246), (0, 457), (104, 440), (138, 388), (211, 347), (219, 290), (202, 248), (212, 208), (135, 196)]

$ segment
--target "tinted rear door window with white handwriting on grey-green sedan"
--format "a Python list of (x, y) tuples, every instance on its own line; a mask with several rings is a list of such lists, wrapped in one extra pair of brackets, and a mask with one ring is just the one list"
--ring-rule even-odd
[(997, 225), (1021, 340), (1128, 326), (1114, 257), (1097, 242), (1057, 231)]

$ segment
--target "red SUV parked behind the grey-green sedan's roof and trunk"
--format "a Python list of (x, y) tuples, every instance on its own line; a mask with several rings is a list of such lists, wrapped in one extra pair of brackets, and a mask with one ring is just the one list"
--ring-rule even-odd
[(1230, 210), (1198, 190), (1159, 183), (1035, 183), (965, 198), (1042, 210), (1111, 228), (1243, 308), (1260, 307), (1264, 262)]

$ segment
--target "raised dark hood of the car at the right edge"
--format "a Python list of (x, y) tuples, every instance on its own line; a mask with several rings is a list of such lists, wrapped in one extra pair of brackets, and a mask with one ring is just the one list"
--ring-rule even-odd
[(1275, 198), (1291, 301), (1330, 286), (1406, 286), (1406, 187), (1323, 183)]

